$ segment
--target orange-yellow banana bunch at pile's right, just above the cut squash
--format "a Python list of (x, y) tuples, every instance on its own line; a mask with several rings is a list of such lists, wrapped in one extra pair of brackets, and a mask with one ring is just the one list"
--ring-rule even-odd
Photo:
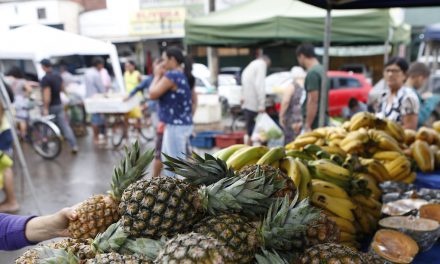
[(412, 171), (411, 161), (397, 151), (379, 151), (373, 155), (373, 159), (380, 161), (388, 172), (386, 181), (402, 181), (412, 183), (416, 173)]

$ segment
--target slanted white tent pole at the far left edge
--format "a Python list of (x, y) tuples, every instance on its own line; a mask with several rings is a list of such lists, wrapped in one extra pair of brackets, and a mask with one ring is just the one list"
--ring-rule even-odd
[(21, 146), (20, 146), (20, 141), (18, 140), (17, 130), (15, 129), (15, 125), (14, 125), (15, 124), (14, 118), (13, 118), (12, 113), (11, 113), (12, 105), (11, 105), (11, 101), (9, 100), (9, 96), (8, 96), (7, 91), (6, 91), (6, 87), (5, 87), (4, 83), (3, 83), (3, 76), (0, 76), (0, 93), (1, 93), (0, 100), (2, 102), (2, 105), (6, 106), (5, 114), (6, 114), (7, 118), (8, 118), (8, 122), (9, 122), (9, 124), (11, 126), (12, 139), (14, 141), (15, 150), (17, 151), (18, 159), (19, 159), (21, 167), (23, 169), (22, 171), (23, 171), (24, 176), (25, 176), (25, 178), (26, 178), (26, 180), (27, 180), (27, 182), (29, 184), (29, 189), (30, 189), (31, 195), (32, 195), (32, 197), (34, 199), (35, 208), (37, 209), (37, 213), (39, 215), (42, 215), (41, 208), (40, 208), (40, 205), (38, 203), (38, 198), (36, 196), (35, 187), (34, 187), (34, 184), (32, 182), (31, 176), (29, 174), (29, 169), (28, 169), (26, 160), (25, 160), (24, 155), (23, 155), (23, 150), (21, 149)]

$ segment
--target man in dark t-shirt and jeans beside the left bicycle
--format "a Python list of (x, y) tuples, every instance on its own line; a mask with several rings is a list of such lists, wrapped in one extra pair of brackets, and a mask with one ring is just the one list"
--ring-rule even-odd
[(64, 137), (69, 142), (72, 148), (72, 153), (78, 152), (78, 145), (76, 143), (75, 135), (69, 122), (66, 120), (66, 113), (64, 112), (64, 106), (61, 103), (60, 93), (63, 91), (63, 79), (57, 73), (52, 71), (52, 63), (48, 59), (44, 59), (41, 62), (43, 71), (46, 73), (41, 80), (41, 88), (43, 91), (43, 114), (54, 115), (55, 123), (63, 131)]

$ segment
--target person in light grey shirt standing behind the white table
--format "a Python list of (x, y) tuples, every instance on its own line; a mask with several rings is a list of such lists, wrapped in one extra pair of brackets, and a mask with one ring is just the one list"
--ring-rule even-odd
[[(101, 69), (104, 68), (104, 60), (100, 57), (92, 59), (92, 67), (85, 73), (86, 97), (92, 97), (95, 94), (105, 93), (105, 87), (101, 78)], [(95, 145), (105, 142), (99, 141), (99, 132), (105, 134), (105, 118), (103, 114), (92, 114), (91, 123), (93, 128), (93, 143)]]

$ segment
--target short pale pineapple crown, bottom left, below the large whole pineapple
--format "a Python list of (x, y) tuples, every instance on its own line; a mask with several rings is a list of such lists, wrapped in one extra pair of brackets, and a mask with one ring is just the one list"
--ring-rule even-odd
[(100, 233), (93, 240), (93, 251), (99, 253), (109, 253), (118, 251), (127, 241), (128, 235), (120, 222), (110, 225), (104, 233)]

